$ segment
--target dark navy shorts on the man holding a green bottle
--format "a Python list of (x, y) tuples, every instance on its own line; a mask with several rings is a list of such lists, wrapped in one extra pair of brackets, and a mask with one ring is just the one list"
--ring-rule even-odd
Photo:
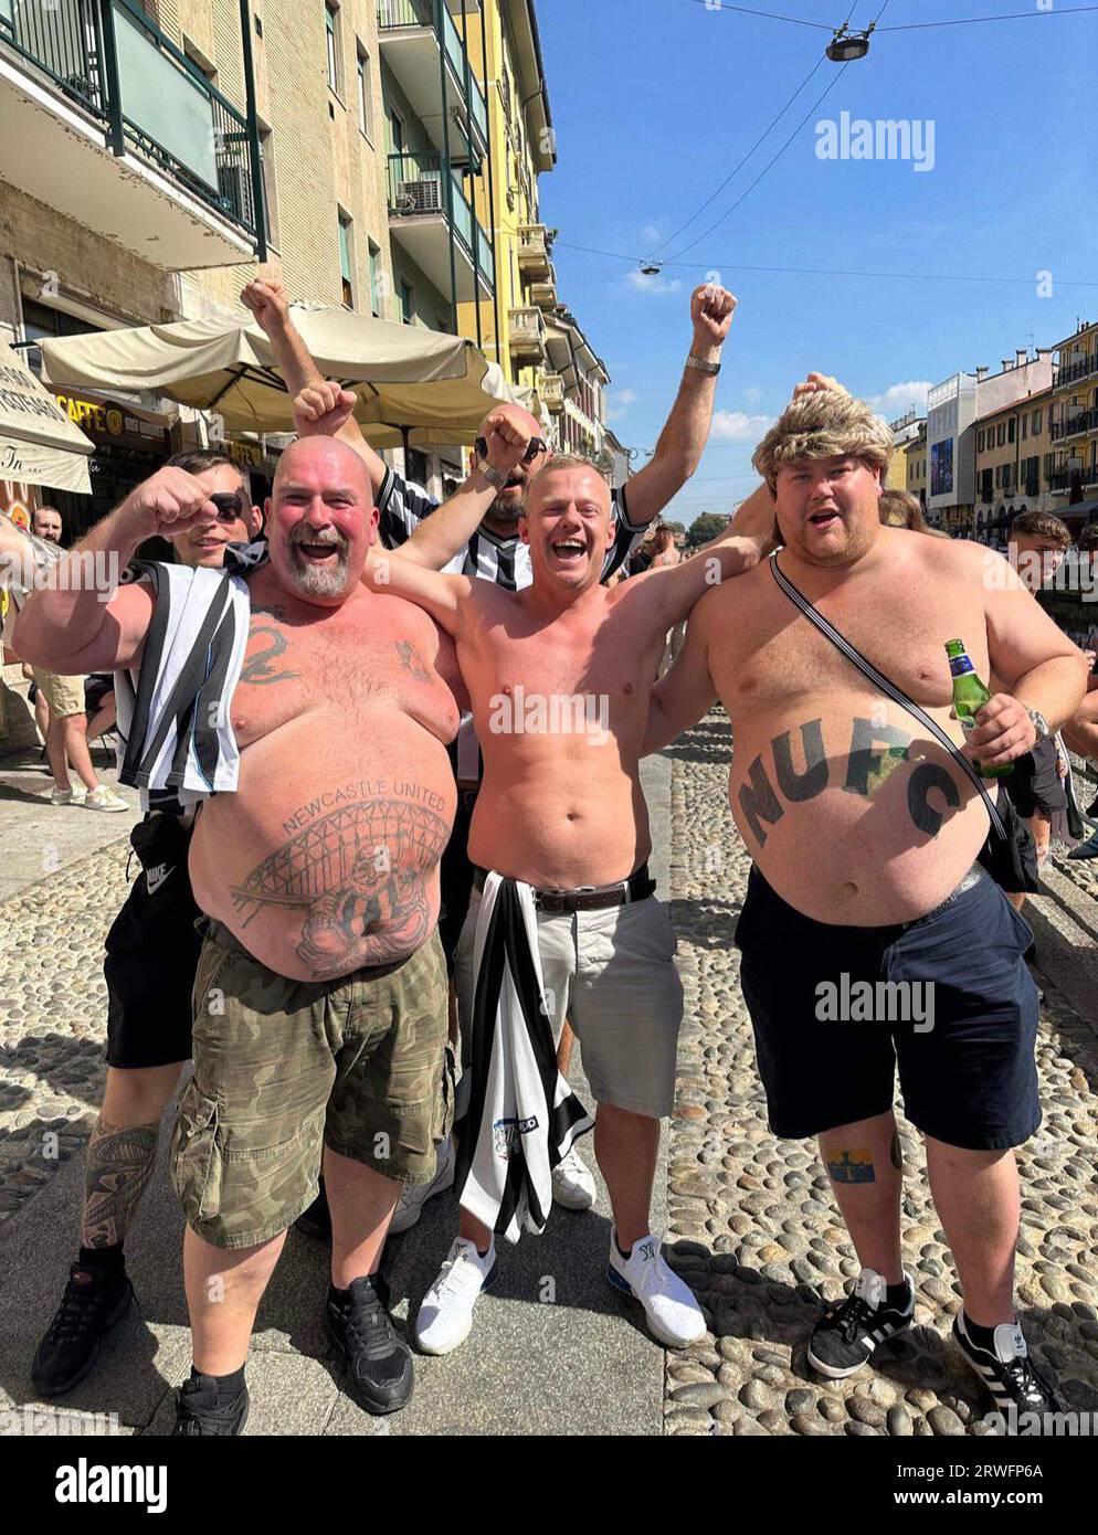
[[(1038, 1001), (1023, 959), (1034, 935), (983, 870), (963, 886), (914, 923), (837, 927), (794, 910), (752, 867), (736, 944), (776, 1136), (886, 1113), (897, 1064), (905, 1113), (935, 1141), (989, 1151), (1037, 1130)], [(854, 998), (871, 995), (855, 1021)]]

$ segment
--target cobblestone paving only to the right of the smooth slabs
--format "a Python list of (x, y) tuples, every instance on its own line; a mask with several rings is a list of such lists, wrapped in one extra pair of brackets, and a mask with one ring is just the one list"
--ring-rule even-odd
[[(858, 1263), (814, 1142), (777, 1141), (756, 1071), (731, 935), (749, 860), (728, 814), (731, 731), (714, 712), (683, 738), (671, 787), (671, 896), (686, 1022), (670, 1147), (673, 1262), (709, 1322), (670, 1354), (671, 1434), (983, 1434), (989, 1397), (949, 1343), (960, 1286), (926, 1185), (921, 1137), (900, 1119), (905, 1262), (915, 1326), (874, 1369), (825, 1382), (805, 1346), (820, 1299)], [(1058, 860), (1061, 872), (1089, 866)], [(1098, 1038), (1041, 976), (1044, 1122), (1021, 1150), (1018, 1314), (1064, 1405), (1098, 1409)]]

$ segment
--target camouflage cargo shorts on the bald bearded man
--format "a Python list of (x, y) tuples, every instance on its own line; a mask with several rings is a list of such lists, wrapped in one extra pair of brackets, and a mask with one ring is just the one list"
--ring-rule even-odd
[(438, 932), (396, 966), (289, 981), (209, 923), (195, 1074), (172, 1134), (187, 1225), (220, 1248), (270, 1240), (316, 1197), (322, 1147), (401, 1183), (430, 1183), (453, 1113), (447, 1030)]

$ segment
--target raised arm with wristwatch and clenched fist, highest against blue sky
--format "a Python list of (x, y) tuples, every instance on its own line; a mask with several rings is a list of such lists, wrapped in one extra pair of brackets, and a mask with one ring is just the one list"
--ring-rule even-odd
[[(634, 527), (659, 516), (702, 460), (717, 393), (720, 348), (733, 324), (734, 310), (733, 295), (713, 284), (702, 284), (690, 296), (694, 336), (679, 393), (659, 434), (656, 451), (625, 487), (628, 517)], [(697, 362), (702, 367), (696, 367)]]

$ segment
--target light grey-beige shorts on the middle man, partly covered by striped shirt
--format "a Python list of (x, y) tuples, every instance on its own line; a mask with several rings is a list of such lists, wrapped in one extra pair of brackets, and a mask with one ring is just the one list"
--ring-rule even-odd
[[(473, 1015), (473, 941), (481, 910), (475, 887), (455, 961), (462, 1067)], [(597, 912), (537, 913), (553, 1042), (565, 1018), (584, 1051), (596, 1102), (662, 1119), (674, 1105), (682, 981), (666, 906), (654, 896)], [(462, 1079), (468, 1082), (468, 1078)], [(468, 1087), (465, 1087), (465, 1094)], [(458, 1088), (458, 1114), (465, 1110)]]

